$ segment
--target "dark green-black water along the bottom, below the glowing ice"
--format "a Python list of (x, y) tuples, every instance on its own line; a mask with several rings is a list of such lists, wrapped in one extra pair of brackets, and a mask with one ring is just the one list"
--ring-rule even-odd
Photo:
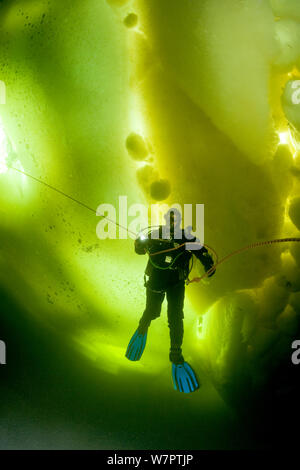
[[(282, 364), (251, 401), (205, 408), (151, 378), (108, 374), (1, 290), (1, 449), (292, 449), (299, 369)], [(126, 360), (124, 358), (124, 360)], [(300, 367), (300, 366), (299, 366)], [(200, 379), (201, 380), (201, 379)], [(207, 384), (204, 384), (207, 387)], [(170, 378), (171, 388), (171, 378)], [(194, 394), (195, 395), (195, 394)]]

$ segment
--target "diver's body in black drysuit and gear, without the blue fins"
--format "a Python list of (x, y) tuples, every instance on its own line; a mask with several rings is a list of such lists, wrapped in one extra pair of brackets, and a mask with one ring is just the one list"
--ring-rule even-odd
[[(159, 227), (157, 238), (166, 238), (163, 237), (163, 234), (166, 233), (164, 230), (169, 230), (167, 233), (170, 234), (170, 241), (160, 241), (153, 238), (143, 239), (142, 237), (139, 237), (135, 240), (135, 252), (138, 255), (144, 255), (147, 251), (151, 254), (174, 248), (176, 244), (181, 245), (185, 242), (193, 243), (197, 241), (196, 237), (193, 237), (192, 239), (186, 238), (184, 230), (180, 229), (181, 214), (176, 209), (170, 209), (165, 215), (165, 220), (167, 221), (167, 224)], [(174, 251), (151, 256), (153, 263), (160, 268), (168, 268), (168, 265), (172, 265), (168, 269), (159, 269), (156, 268), (149, 259), (145, 270), (146, 308), (140, 319), (138, 332), (140, 334), (146, 333), (151, 321), (160, 316), (161, 306), (166, 295), (168, 301), (168, 326), (170, 329), (171, 342), (169, 359), (174, 364), (182, 364), (184, 362), (181, 349), (184, 331), (183, 306), (185, 280), (189, 275), (189, 262), (192, 257), (192, 253), (203, 264), (206, 272), (213, 266), (213, 259), (209, 255), (207, 249), (204, 246), (201, 247), (201, 245), (199, 245), (199, 249), (193, 250), (192, 252), (186, 250), (185, 246), (183, 246)], [(175, 257), (178, 258), (174, 263), (172, 263), (172, 260), (174, 260)], [(214, 273), (215, 270), (212, 271), (209, 277)]]

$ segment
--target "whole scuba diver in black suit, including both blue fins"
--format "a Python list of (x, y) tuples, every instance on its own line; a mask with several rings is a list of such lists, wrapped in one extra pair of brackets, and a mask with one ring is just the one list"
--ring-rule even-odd
[[(180, 228), (181, 213), (179, 210), (169, 209), (164, 218), (166, 225), (160, 225), (158, 230), (152, 232), (150, 230), (147, 236), (140, 235), (135, 240), (135, 252), (138, 255), (146, 253), (149, 255), (144, 274), (146, 308), (138, 328), (128, 344), (125, 356), (130, 361), (140, 360), (146, 346), (150, 323), (160, 316), (162, 303), (166, 296), (170, 331), (169, 359), (172, 362), (173, 384), (175, 390), (190, 393), (199, 388), (199, 383), (192, 367), (185, 362), (181, 348), (184, 332), (185, 281), (191, 271), (190, 260), (193, 253), (200, 260), (206, 272), (212, 268), (214, 262), (207, 249), (199, 243), (197, 238), (193, 236), (191, 238), (189, 233), (191, 227), (188, 230)], [(196, 243), (198, 247), (196, 250), (194, 247), (191, 252), (186, 248), (187, 244), (192, 243)], [(215, 270), (212, 270), (209, 277), (214, 273)]]

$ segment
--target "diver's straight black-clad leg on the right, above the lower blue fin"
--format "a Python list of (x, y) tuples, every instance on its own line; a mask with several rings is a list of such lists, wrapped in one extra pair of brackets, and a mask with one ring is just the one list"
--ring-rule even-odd
[(170, 329), (170, 361), (174, 364), (183, 364), (184, 358), (182, 355), (182, 341), (183, 341), (183, 306), (184, 306), (184, 291), (185, 284), (179, 282), (167, 289), (168, 300), (168, 324)]

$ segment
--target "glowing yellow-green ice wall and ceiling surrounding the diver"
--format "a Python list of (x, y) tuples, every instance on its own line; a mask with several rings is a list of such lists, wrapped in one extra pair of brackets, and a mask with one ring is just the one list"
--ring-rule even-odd
[[(99, 368), (132, 369), (146, 259), (7, 161), (93, 207), (204, 203), (219, 255), (299, 236), (299, 21), (298, 0), (1, 3), (1, 283)], [(299, 263), (261, 248), (187, 288), (185, 356), (221, 390), (290, 354)], [(165, 370), (165, 316), (152, 330), (137, 374)]]

